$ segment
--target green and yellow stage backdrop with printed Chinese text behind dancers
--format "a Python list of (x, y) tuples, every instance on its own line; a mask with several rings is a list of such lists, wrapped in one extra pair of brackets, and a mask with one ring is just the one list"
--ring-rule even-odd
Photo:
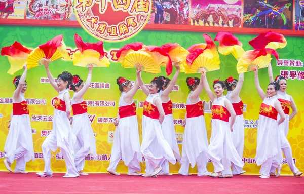
[[(56, 35), (63, 34), (64, 42), (69, 47), (69, 52), (72, 53), (75, 50), (75, 43), (73, 41), (74, 33), (78, 33), (83, 37), (85, 42), (96, 42), (93, 37), (86, 33), (82, 28), (64, 28), (64, 27), (33, 27), (33, 26), (1, 26), (0, 27), (0, 43), (1, 46), (9, 46), (14, 41), (20, 42), (22, 45), (30, 48), (35, 48), (40, 44), (45, 43)], [(87, 91), (84, 99), (87, 100), (88, 113), (92, 122), (94, 133), (96, 134), (96, 146), (97, 146), (97, 160), (93, 160), (91, 156), (86, 157), (85, 172), (104, 173), (109, 166), (111, 158), (111, 147), (113, 138), (115, 136), (115, 126), (113, 125), (113, 118), (116, 117), (118, 111), (118, 100), (120, 97), (120, 91), (116, 84), (118, 76), (124, 76), (126, 79), (135, 80), (135, 69), (124, 69), (121, 64), (115, 62), (115, 52), (127, 43), (141, 41), (145, 45), (157, 45), (161, 46), (164, 43), (177, 42), (181, 46), (187, 48), (196, 43), (204, 42), (202, 37), (203, 32), (174, 32), (174, 31), (141, 31), (138, 35), (131, 38), (128, 41), (121, 43), (104, 43), (104, 48), (108, 52), (108, 57), (111, 59), (111, 65), (109, 68), (94, 68), (91, 88)], [(208, 33), (212, 38), (215, 37), (215, 33)], [(252, 49), (248, 45), (248, 41), (255, 35), (236, 34), (239, 40), (243, 43), (245, 50)], [(304, 40), (301, 37), (286, 37), (287, 46), (284, 49), (278, 50), (280, 60), (272, 60), (272, 66), (274, 69), (274, 75), (283, 74), (288, 78), (288, 94), (293, 96), (293, 99), (298, 108), (298, 114), (290, 121), (290, 129), (288, 134), (288, 140), (292, 147), (292, 153), (296, 167), (300, 171), (304, 171), (304, 127), (301, 122), (304, 120), (304, 101), (302, 85), (304, 84)], [(228, 76), (234, 76), (238, 79), (236, 71), (237, 61), (233, 56), (220, 55), (221, 66), (220, 70), (207, 73), (209, 84), (212, 84), (213, 80), (220, 77), (221, 80), (226, 79)], [(7, 71), (10, 68), (10, 64), (7, 57), (0, 57), (1, 72), (0, 77), (2, 81), (2, 91), (0, 94), (0, 170), (6, 170), (3, 160), (5, 157), (4, 145), (9, 129), (8, 121), (10, 120), (10, 113), (12, 110), (12, 95), (14, 92), (13, 78), (14, 76), (21, 74), (22, 70), (15, 75), (10, 75)], [(83, 80), (87, 78), (88, 70), (83, 67), (76, 67), (72, 65), (72, 62), (58, 60), (50, 64), (50, 70), (54, 77), (57, 77), (62, 71), (69, 71), (72, 74), (78, 74)], [(175, 70), (170, 75), (170, 78), (174, 75)], [(166, 75), (165, 69), (162, 68), (162, 73), (159, 75)], [(179, 148), (182, 148), (183, 132), (184, 128), (181, 127), (181, 121), (184, 118), (186, 109), (185, 102), (189, 90), (186, 86), (187, 76), (197, 76), (200, 74), (184, 74), (180, 73), (176, 87), (170, 94), (170, 98), (173, 102), (173, 118), (176, 129), (176, 140), (178, 141)], [(144, 83), (148, 84), (154, 77), (154, 74), (142, 72)], [(260, 84), (263, 89), (267, 88), (269, 83), (267, 69), (259, 70)], [(27, 171), (43, 171), (44, 160), (41, 145), (47, 135), (52, 130), (52, 116), (54, 107), (51, 105), (53, 97), (57, 96), (56, 91), (48, 83), (47, 74), (43, 66), (39, 66), (34, 69), (29, 69), (26, 77), (28, 89), (25, 97), (29, 103), (29, 112), (31, 118), (31, 127), (33, 135), (33, 144), (35, 151), (35, 161), (31, 161), (26, 164)], [(70, 91), (71, 96), (73, 92)], [(242, 98), (244, 106), (245, 116), (245, 147), (243, 154), (243, 161), (245, 163), (244, 170), (248, 174), (258, 174), (260, 167), (255, 164), (255, 149), (256, 149), (256, 136), (258, 126), (259, 107), (262, 102), (255, 86), (253, 72), (245, 73), (245, 82), (241, 91), (240, 97)], [(138, 90), (134, 96), (135, 104), (137, 105), (137, 118), (138, 127), (141, 140), (141, 118), (142, 118), (142, 103), (146, 96), (141, 90)], [(200, 95), (200, 98), (204, 101), (205, 105), (205, 120), (208, 138), (211, 136), (211, 114), (210, 108), (212, 103), (210, 102), (206, 92)], [(284, 160), (285, 163), (285, 160)], [(56, 152), (52, 152), (52, 170), (54, 172), (64, 172), (65, 163), (62, 156), (59, 154), (59, 149)], [(12, 165), (13, 169), (15, 163)], [(144, 172), (145, 164), (141, 165), (142, 172)], [(177, 173), (180, 164), (170, 165), (170, 171)], [(213, 171), (213, 165), (208, 163), (208, 170)], [(127, 167), (121, 161), (118, 168), (118, 172), (127, 173)], [(191, 173), (197, 173), (196, 167), (190, 170)], [(282, 174), (291, 174), (287, 164), (283, 165)]]

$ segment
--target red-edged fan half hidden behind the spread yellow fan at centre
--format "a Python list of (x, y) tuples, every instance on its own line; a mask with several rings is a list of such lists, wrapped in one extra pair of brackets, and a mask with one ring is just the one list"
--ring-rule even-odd
[(168, 76), (171, 74), (172, 61), (170, 55), (166, 51), (157, 46), (144, 46), (141, 50), (152, 55), (158, 65), (166, 66), (166, 72)]

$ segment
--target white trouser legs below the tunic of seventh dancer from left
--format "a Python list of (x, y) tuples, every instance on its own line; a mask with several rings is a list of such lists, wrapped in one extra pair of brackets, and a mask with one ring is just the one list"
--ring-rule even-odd
[[(198, 156), (198, 158), (196, 160), (197, 169), (198, 169), (198, 176), (203, 175), (203, 174), (205, 174), (205, 173), (208, 172), (208, 170), (207, 170), (208, 160), (209, 159), (206, 157), (206, 153), (205, 152), (202, 152)], [(185, 162), (182, 162), (178, 173), (182, 174), (182, 175), (188, 175), (188, 173), (189, 173), (189, 166), (190, 166), (189, 160), (187, 160)]]

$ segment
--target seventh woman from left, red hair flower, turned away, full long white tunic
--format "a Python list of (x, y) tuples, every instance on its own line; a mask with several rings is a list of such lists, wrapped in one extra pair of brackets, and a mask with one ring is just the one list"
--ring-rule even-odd
[(186, 102), (186, 115), (183, 121), (185, 127), (179, 174), (189, 175), (189, 165), (194, 168), (197, 164), (198, 176), (209, 176), (207, 170), (208, 158), (206, 151), (208, 148), (208, 138), (204, 118), (204, 105), (200, 99), (200, 94), (204, 88), (202, 75), (201, 80), (197, 77), (187, 77), (187, 86), (191, 91)]

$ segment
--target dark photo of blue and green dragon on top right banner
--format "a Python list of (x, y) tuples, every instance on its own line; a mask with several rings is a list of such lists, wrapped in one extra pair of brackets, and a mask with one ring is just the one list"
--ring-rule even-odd
[(244, 0), (243, 26), (249, 28), (292, 29), (292, 2)]

